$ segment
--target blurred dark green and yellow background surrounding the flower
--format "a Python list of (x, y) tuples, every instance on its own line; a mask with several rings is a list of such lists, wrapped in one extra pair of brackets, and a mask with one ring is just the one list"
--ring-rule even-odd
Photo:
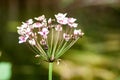
[(119, 0), (0, 0), (0, 80), (47, 80), (48, 64), (18, 44), (16, 27), (59, 12), (85, 35), (54, 64), (53, 80), (120, 80)]

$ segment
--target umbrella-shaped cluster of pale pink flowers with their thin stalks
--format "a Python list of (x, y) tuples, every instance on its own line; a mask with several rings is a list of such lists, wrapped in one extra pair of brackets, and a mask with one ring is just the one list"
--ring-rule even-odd
[(48, 20), (44, 15), (22, 22), (17, 27), (19, 43), (28, 42), (45, 60), (53, 62), (63, 55), (80, 37), (84, 35), (75, 18), (58, 13), (55, 19)]

